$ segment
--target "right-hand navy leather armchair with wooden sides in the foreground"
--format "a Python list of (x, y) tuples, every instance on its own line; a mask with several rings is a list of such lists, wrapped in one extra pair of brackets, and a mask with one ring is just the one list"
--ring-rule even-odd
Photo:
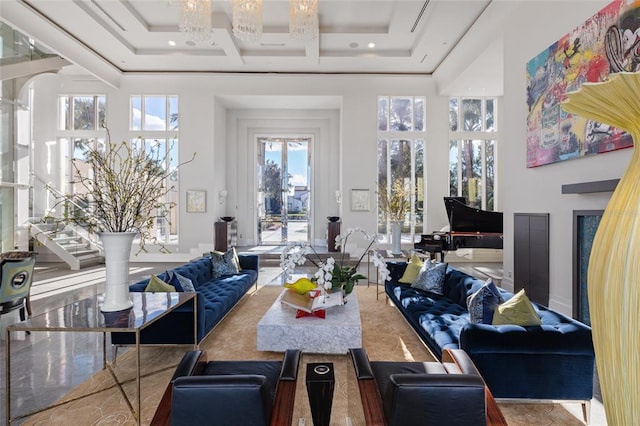
[(482, 376), (459, 349), (443, 362), (369, 361), (350, 349), (367, 426), (506, 425)]

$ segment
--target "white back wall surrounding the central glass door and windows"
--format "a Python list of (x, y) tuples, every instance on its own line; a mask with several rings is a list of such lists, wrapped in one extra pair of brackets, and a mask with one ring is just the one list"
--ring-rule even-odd
[[(123, 77), (120, 88), (114, 89), (87, 77), (49, 75), (35, 80), (35, 93), (36, 163), (44, 178), (51, 177), (45, 166), (51, 160), (45, 143), (55, 141), (57, 134), (57, 94), (106, 93), (107, 120), (114, 141), (127, 137), (130, 95), (179, 96), (180, 158), (197, 153), (195, 161), (180, 170), (180, 200), (185, 199), (188, 189), (205, 189), (207, 211), (187, 213), (184, 203), (181, 204), (180, 243), (172, 248), (174, 253), (188, 253), (199, 244), (211, 244), (213, 223), (223, 215), (238, 218), (238, 234), (242, 235), (239, 244), (256, 241), (255, 135), (261, 132), (303, 132), (315, 139), (312, 153), (315, 242), (324, 240), (329, 215), (341, 216), (343, 228), (359, 226), (374, 231), (377, 97), (425, 96), (426, 228), (440, 229), (447, 223), (442, 196), (448, 190), (448, 103), (446, 97), (435, 95), (433, 81), (427, 76), (133, 75)], [(277, 108), (266, 108), (264, 102), (260, 102), (259, 108), (233, 106), (234, 97), (247, 96), (272, 100)], [(315, 97), (339, 101), (328, 109), (308, 106)], [(371, 211), (350, 210), (352, 188), (370, 189)], [(223, 189), (229, 196), (221, 204), (218, 194)], [(340, 207), (335, 202), (336, 189), (342, 191)]]

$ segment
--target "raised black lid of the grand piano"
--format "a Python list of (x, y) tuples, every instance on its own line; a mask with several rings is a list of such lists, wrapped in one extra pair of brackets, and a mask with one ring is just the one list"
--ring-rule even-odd
[(470, 207), (460, 201), (464, 197), (444, 197), (451, 232), (502, 234), (502, 212)]

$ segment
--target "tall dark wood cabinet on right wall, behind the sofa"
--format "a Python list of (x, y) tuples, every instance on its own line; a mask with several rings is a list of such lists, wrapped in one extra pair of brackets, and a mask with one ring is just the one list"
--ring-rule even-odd
[(513, 285), (549, 306), (549, 214), (514, 213)]

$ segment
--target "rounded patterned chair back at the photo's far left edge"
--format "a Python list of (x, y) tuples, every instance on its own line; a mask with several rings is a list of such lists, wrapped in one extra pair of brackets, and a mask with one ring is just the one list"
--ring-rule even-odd
[(35, 256), (0, 260), (2, 268), (0, 312), (8, 312), (23, 306), (24, 299), (31, 289), (35, 262)]

